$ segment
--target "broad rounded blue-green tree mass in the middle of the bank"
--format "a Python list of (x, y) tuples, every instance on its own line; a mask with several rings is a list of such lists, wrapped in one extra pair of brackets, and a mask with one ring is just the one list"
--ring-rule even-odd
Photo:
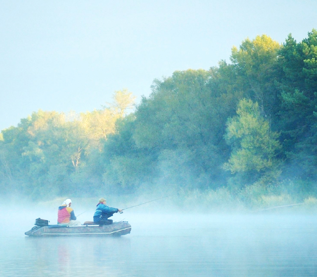
[[(164, 183), (193, 186), (194, 178), (202, 180), (197, 187), (216, 187), (225, 175), (221, 169), (229, 155), (223, 139), (225, 122), (234, 113), (239, 93), (231, 94), (231, 88), (228, 92), (223, 82), (216, 69), (176, 71), (162, 82), (157, 80), (150, 98), (137, 107), (133, 138), (138, 147), (157, 156), (159, 171), (173, 176), (172, 182), (167, 178)], [(171, 161), (173, 167), (166, 166)]]

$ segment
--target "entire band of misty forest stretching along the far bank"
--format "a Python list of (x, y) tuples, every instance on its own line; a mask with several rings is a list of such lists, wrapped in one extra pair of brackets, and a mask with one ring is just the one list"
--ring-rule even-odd
[(2, 130), (2, 193), (316, 196), (315, 29), (299, 43), (291, 35), (282, 45), (266, 35), (246, 39), (230, 63), (155, 80), (128, 114), (134, 100), (117, 91), (99, 110), (39, 110)]

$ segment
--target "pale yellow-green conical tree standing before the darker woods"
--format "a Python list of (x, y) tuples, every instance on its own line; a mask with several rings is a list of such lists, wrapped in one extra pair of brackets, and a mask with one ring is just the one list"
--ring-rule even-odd
[(277, 169), (278, 134), (270, 131), (257, 102), (240, 100), (237, 116), (227, 122), (225, 139), (232, 152), (224, 168), (232, 174), (257, 173), (261, 177)]

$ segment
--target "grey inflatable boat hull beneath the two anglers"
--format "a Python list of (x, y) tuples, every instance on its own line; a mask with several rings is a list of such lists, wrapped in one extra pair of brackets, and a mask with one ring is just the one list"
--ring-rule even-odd
[(25, 232), (28, 236), (67, 236), (67, 235), (94, 235), (94, 236), (121, 236), (130, 233), (131, 225), (126, 221), (114, 222), (110, 225), (84, 224), (81, 226), (34, 226)]

